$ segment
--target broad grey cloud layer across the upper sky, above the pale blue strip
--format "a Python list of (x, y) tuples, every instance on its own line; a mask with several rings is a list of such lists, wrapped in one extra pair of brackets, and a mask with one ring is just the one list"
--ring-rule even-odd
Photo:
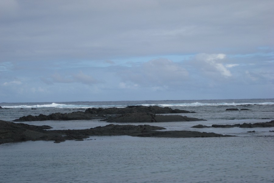
[[(1, 44), (9, 48), (1, 52), (6, 61), (218, 49), (247, 53), (258, 46), (273, 47), (273, 1), (12, 2), (1, 18)], [(9, 16), (13, 9), (16, 14)]]

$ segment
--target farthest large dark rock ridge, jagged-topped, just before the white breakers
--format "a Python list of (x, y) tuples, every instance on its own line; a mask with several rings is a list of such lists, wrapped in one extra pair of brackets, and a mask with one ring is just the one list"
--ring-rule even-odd
[(88, 108), (86, 113), (100, 115), (121, 115), (126, 113), (153, 113), (153, 114), (168, 114), (168, 113), (195, 113), (180, 109), (171, 109), (170, 107), (159, 106), (127, 106), (124, 108)]

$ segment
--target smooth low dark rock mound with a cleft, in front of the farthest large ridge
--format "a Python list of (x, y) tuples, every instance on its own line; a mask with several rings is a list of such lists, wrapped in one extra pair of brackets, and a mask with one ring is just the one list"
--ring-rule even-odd
[(149, 123), (149, 122), (174, 122), (174, 121), (205, 121), (194, 117), (181, 115), (156, 115), (153, 113), (127, 113), (120, 116), (109, 117), (109, 123)]

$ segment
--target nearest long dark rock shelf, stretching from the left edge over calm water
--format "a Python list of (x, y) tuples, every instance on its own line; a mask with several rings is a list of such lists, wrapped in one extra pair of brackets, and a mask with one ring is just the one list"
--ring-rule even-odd
[(44, 130), (49, 126), (35, 126), (23, 123), (13, 123), (0, 120), (0, 144), (9, 142), (46, 140), (54, 143), (65, 140), (82, 140), (89, 136), (129, 135), (139, 137), (229, 137), (215, 133), (197, 131), (155, 131), (163, 130), (163, 127), (150, 125), (114, 125), (95, 127), (83, 130)]

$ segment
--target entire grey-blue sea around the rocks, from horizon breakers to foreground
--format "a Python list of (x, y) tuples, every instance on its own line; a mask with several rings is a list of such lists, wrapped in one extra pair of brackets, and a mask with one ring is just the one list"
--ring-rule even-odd
[[(274, 127), (191, 128), (197, 124), (211, 126), (274, 120), (274, 99), (0, 103), (0, 120), (131, 105), (195, 111), (181, 115), (207, 120), (146, 123), (149, 125), (236, 137), (92, 136), (84, 141), (61, 143), (7, 143), (0, 145), (0, 182), (274, 182), (274, 132), (270, 132)], [(250, 110), (226, 111), (228, 108)], [(24, 123), (49, 125), (53, 129), (86, 129), (109, 124), (98, 120)]]

